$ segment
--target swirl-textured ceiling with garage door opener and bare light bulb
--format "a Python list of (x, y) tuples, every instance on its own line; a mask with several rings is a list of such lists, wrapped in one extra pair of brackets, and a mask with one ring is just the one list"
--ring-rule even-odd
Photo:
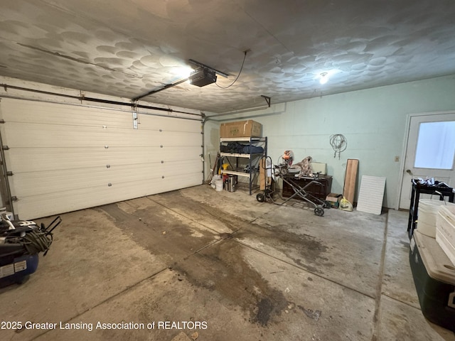
[(220, 113), (454, 75), (455, 1), (1, 0), (3, 76), (133, 99), (189, 59), (229, 77), (142, 100)]

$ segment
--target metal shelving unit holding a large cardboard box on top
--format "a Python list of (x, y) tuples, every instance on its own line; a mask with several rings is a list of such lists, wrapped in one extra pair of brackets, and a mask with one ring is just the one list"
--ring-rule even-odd
[[(259, 175), (259, 161), (262, 157), (267, 156), (267, 137), (222, 137), (220, 138), (220, 147), (223, 146), (223, 144), (228, 144), (230, 142), (238, 142), (244, 146), (250, 147), (250, 149), (252, 146), (260, 146), (264, 149), (264, 151), (260, 153), (220, 152), (220, 157), (225, 158), (232, 168), (230, 170), (221, 170), (221, 173), (248, 178), (248, 188), (250, 190), (250, 195), (252, 195), (252, 190), (259, 187), (257, 185), (255, 186), (255, 181)], [(248, 172), (245, 172), (240, 167), (240, 160), (247, 160)]]

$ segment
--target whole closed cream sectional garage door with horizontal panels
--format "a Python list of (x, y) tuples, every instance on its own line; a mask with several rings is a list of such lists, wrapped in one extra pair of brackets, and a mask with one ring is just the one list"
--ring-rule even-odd
[(203, 182), (201, 122), (3, 98), (14, 212), (47, 217)]

